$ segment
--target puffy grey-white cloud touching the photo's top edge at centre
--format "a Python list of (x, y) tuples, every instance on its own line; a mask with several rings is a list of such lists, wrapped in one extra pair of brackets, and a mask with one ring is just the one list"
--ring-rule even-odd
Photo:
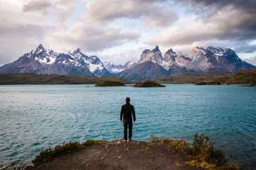
[(178, 14), (169, 8), (164, 8), (159, 2), (159, 0), (94, 0), (87, 3), (85, 16), (100, 22), (113, 21), (117, 18), (142, 18), (146, 26), (170, 26), (178, 20)]

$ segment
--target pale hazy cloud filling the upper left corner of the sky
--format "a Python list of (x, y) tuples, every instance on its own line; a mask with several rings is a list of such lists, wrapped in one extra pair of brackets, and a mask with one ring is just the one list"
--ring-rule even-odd
[[(20, 1), (19, 1), (20, 2)], [(54, 28), (41, 13), (23, 13), (22, 4), (0, 1), (0, 65), (14, 62)], [(17, 19), (18, 18), (18, 19)]]

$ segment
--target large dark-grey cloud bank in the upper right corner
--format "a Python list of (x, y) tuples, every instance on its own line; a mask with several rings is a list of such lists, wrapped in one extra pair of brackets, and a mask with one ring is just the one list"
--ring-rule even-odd
[[(186, 25), (164, 30), (155, 38), (147, 40), (146, 44), (171, 47), (210, 40), (212, 43), (228, 41), (225, 44), (233, 46), (238, 52), (256, 50), (256, 45), (249, 44), (256, 39), (255, 2), (250, 1), (250, 5), (241, 1), (183, 0), (182, 2), (186, 6), (193, 7), (196, 18)], [(180, 18), (180, 20), (186, 20), (186, 18)]]

